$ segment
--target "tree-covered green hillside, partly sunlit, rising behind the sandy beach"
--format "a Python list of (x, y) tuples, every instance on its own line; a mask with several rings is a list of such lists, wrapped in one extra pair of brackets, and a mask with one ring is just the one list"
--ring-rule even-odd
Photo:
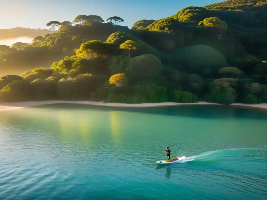
[(3, 75), (21, 73), (0, 79), (0, 101), (266, 103), (266, 19), (266, 0), (233, 0), (131, 29), (117, 16), (51, 21), (32, 44), (0, 45)]

